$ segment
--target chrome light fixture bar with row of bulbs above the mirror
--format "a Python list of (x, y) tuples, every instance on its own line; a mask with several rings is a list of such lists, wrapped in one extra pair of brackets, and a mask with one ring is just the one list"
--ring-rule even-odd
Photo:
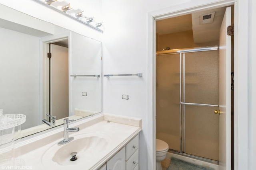
[(84, 23), (85, 25), (96, 29), (97, 31), (103, 32), (103, 25), (102, 22), (96, 23), (94, 21), (94, 17), (87, 17), (84, 16), (82, 10), (80, 9), (72, 9), (72, 4), (66, 2), (65, 0), (35, 0), (37, 2), (40, 2), (41, 4), (44, 4), (45, 6), (48, 6), (52, 8), (53, 10), (60, 12), (70, 18), (73, 18), (74, 20), (77, 20), (81, 23)]

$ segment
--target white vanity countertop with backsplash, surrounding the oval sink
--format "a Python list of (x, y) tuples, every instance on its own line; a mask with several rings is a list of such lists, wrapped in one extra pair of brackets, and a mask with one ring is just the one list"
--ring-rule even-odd
[[(58, 146), (57, 143), (63, 139), (63, 129), (58, 129), (55, 133), (52, 131), (44, 134), (44, 137), (35, 137), (22, 141), (22, 155), (20, 158), (26, 162), (25, 166), (32, 167), (32, 170), (97, 170), (141, 131), (141, 119), (102, 114), (95, 118), (92, 117), (90, 120), (70, 123), (70, 127), (80, 128), (78, 132), (69, 133), (69, 137), (74, 137), (73, 141), (81, 136), (93, 135), (103, 137), (106, 145), (100, 151), (98, 149), (97, 152), (99, 154), (96, 155), (90, 154), (91, 151), (87, 152), (87, 154), (79, 155), (82, 151), (74, 150), (74, 152), (78, 152), (78, 160), (73, 162), (68, 160), (67, 163), (64, 161), (60, 165), (52, 160), (54, 154), (64, 145), (72, 144), (73, 141)], [(86, 143), (81, 143), (81, 145), (86, 147)], [(72, 145), (69, 146), (73, 147)], [(79, 157), (81, 158), (80, 160)]]

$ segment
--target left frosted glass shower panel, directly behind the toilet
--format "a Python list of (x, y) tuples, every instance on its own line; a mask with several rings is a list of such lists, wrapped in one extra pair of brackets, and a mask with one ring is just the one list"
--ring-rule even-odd
[(156, 56), (156, 138), (180, 150), (180, 55)]

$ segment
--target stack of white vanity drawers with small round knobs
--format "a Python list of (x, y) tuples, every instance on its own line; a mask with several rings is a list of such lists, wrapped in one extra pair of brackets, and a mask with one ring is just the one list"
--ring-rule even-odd
[(139, 165), (139, 135), (126, 145), (126, 170), (136, 170)]

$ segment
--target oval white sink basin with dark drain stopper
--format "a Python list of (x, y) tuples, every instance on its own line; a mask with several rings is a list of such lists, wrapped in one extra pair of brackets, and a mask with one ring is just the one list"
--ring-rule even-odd
[[(102, 133), (83, 133), (74, 135), (74, 140), (64, 145), (57, 143), (50, 147), (42, 156), (42, 163), (51, 166), (57, 163), (61, 166), (84, 164), (85, 160), (92, 160), (103, 154), (108, 148), (110, 139)], [(77, 160), (71, 161), (70, 153), (77, 152)]]

